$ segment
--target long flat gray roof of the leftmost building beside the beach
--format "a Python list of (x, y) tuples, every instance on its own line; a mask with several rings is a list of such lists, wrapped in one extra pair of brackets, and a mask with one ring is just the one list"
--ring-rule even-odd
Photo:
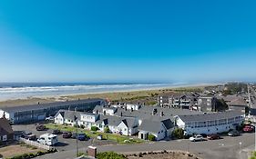
[(86, 104), (86, 103), (94, 103), (94, 102), (104, 102), (104, 100), (100, 98), (83, 99), (83, 100), (55, 102), (55, 103), (48, 103), (48, 104), (29, 104), (29, 105), (20, 105), (20, 106), (8, 106), (8, 107), (2, 107), (0, 109), (8, 113), (15, 113), (15, 112), (23, 112), (25, 110), (32, 111), (32, 110), (46, 109), (50, 107), (66, 106), (66, 105), (73, 105), (73, 104)]

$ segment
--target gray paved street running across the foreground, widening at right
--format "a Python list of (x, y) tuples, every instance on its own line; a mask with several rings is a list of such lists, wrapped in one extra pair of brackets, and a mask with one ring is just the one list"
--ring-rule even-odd
[[(241, 144), (240, 144), (241, 143)], [(225, 136), (223, 139), (192, 143), (189, 140), (155, 142), (151, 144), (122, 144), (97, 146), (98, 152), (115, 151), (118, 153), (183, 150), (198, 154), (205, 159), (247, 159), (248, 151), (254, 147), (254, 134), (242, 134), (238, 137)], [(80, 149), (85, 151), (86, 147)], [(46, 154), (40, 159), (72, 159), (76, 149), (55, 154)]]

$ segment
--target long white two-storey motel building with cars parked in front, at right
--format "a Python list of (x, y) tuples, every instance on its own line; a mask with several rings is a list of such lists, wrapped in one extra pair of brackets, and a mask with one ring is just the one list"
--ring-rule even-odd
[(184, 134), (217, 134), (235, 129), (244, 121), (241, 112), (227, 111), (211, 114), (188, 114), (175, 116), (176, 125)]

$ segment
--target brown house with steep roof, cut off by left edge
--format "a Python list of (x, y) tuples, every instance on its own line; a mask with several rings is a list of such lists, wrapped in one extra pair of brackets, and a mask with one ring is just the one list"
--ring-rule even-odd
[(0, 143), (14, 140), (14, 131), (5, 116), (0, 118)]

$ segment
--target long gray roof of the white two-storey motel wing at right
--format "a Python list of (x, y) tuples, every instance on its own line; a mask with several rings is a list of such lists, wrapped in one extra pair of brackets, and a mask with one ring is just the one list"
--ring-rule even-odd
[(232, 117), (241, 116), (243, 113), (237, 111), (226, 111), (211, 114), (190, 114), (190, 115), (179, 115), (179, 118), (185, 122), (206, 122), (212, 120), (228, 119)]

